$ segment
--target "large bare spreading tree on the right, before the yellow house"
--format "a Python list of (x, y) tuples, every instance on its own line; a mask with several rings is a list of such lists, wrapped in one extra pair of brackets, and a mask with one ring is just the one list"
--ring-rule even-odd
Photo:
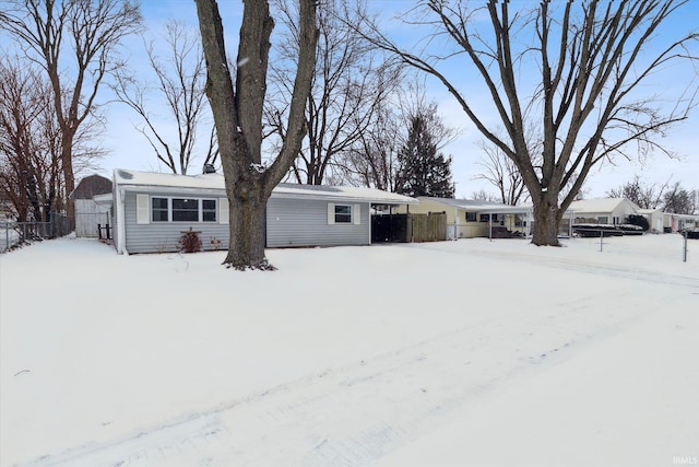
[[(559, 244), (558, 224), (594, 165), (615, 155), (633, 157), (632, 142), (642, 150), (665, 151), (655, 138), (686, 119), (695, 104), (691, 73), (689, 87), (670, 109), (661, 107), (659, 97), (640, 94), (656, 72), (677, 60), (696, 59), (688, 47), (699, 35), (660, 34), (668, 19), (683, 14), (686, 0), (536, 5), (490, 0), (477, 10), (461, 1), (427, 0), (422, 5), (426, 20), (418, 23), (437, 31), (429, 40), (440, 45), (438, 52), (405, 50), (376, 24), (374, 42), (441, 81), (478, 131), (514, 162), (534, 205), (536, 245)], [(479, 107), (441, 67), (461, 57), (482, 80), (490, 109)], [(460, 75), (470, 72), (458, 70)], [(664, 95), (662, 101), (667, 100)], [(494, 114), (506, 138), (487, 119)], [(541, 128), (541, 154), (532, 154), (526, 144), (524, 130), (532, 122)], [(560, 199), (567, 185), (570, 189)]]

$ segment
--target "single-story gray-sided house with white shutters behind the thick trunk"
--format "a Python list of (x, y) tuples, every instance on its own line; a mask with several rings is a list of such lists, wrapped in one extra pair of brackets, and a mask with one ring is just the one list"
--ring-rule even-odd
[[(280, 184), (266, 205), (266, 246), (368, 245), (372, 205), (416, 202), (371, 188)], [(204, 249), (228, 248), (228, 200), (221, 174), (116, 170), (112, 203), (118, 253), (179, 250), (179, 238), (189, 229), (200, 233)]]

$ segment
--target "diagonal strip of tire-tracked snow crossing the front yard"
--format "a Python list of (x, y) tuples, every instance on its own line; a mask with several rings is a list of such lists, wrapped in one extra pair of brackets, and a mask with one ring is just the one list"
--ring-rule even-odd
[(27, 466), (365, 465), (642, 317), (590, 306), (605, 299), (514, 312)]

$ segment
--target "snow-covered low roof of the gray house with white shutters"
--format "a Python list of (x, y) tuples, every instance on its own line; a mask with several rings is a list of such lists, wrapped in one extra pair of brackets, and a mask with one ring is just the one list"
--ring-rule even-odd
[[(153, 172), (137, 172), (117, 168), (115, 182), (118, 186), (131, 189), (157, 190), (216, 190), (225, 191), (222, 174), (174, 175)], [(272, 190), (272, 197), (325, 199), (339, 201), (364, 201), (377, 205), (414, 205), (418, 201), (403, 195), (375, 188), (317, 186), (299, 184), (279, 184)]]

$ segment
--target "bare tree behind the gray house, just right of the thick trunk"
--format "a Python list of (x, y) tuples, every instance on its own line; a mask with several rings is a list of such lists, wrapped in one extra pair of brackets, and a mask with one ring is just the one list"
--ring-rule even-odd
[[(295, 75), (293, 61), (298, 56), (298, 7), (291, 0), (275, 0), (285, 36), (279, 59), (272, 65), (272, 82), (277, 102), (268, 109), (268, 120), (284, 135), (285, 108)], [(346, 0), (319, 2), (319, 38), (316, 69), (306, 106), (307, 138), (292, 166), (297, 183), (321, 185), (336, 174), (354, 143), (374, 121), (374, 116), (398, 83), (400, 69), (386, 62), (347, 23), (356, 24), (365, 14), (347, 8)], [(291, 63), (291, 66), (289, 66)]]

